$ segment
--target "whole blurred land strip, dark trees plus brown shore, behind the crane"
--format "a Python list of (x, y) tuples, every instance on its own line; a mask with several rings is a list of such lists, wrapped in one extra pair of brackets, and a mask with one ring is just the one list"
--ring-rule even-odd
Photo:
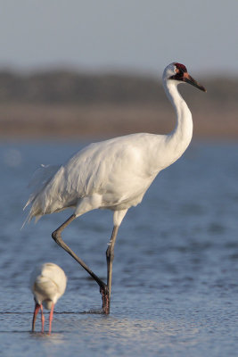
[[(238, 137), (238, 79), (198, 80), (206, 94), (181, 86), (194, 134)], [(0, 71), (0, 104), (0, 135), (7, 137), (162, 133), (175, 124), (161, 81), (129, 74)]]

